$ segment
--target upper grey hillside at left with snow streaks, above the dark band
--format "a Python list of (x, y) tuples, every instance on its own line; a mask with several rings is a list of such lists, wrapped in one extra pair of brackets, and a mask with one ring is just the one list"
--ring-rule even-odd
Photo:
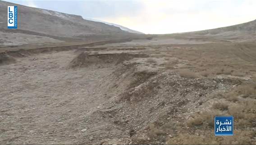
[(7, 6), (18, 6), (18, 29), (52, 36), (86, 36), (127, 33), (119, 27), (83, 19), (81, 16), (37, 9), (0, 1), (0, 28), (7, 28)]

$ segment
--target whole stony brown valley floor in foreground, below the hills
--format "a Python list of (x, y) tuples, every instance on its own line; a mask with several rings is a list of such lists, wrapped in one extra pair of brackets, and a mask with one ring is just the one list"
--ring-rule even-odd
[(0, 142), (255, 144), (256, 44), (157, 39), (2, 55)]

